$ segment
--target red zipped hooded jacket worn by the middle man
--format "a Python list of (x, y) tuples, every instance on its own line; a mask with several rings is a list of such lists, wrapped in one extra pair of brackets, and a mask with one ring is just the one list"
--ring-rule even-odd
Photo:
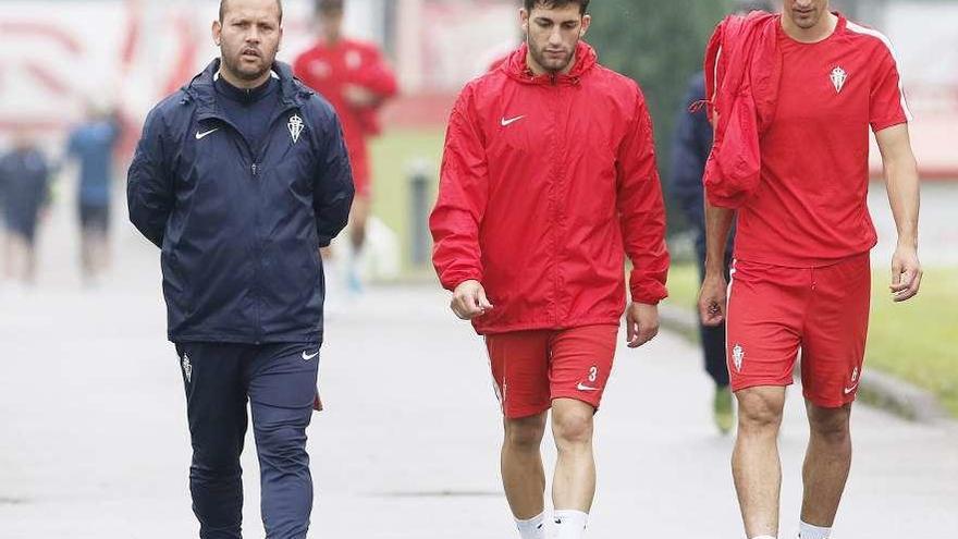
[(450, 118), (430, 218), (442, 285), (475, 279), (479, 333), (618, 323), (665, 297), (668, 253), (652, 122), (638, 85), (580, 42), (567, 75), (527, 48), (470, 82)]

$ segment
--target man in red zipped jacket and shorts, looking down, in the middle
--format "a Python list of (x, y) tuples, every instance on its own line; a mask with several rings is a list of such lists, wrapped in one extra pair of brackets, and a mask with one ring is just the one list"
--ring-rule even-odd
[(588, 0), (526, 0), (525, 44), (466, 85), (430, 218), (452, 310), (484, 335), (504, 415), (502, 478), (520, 537), (545, 534), (540, 445), (558, 450), (562, 539), (581, 538), (595, 491), (593, 415), (626, 307), (629, 347), (659, 329), (665, 212), (639, 86), (581, 40)]

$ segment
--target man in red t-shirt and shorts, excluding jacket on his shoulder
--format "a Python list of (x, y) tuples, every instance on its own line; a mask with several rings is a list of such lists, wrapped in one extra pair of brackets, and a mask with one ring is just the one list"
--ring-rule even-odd
[(722, 254), (734, 212), (707, 204), (699, 308), (704, 323), (727, 327), (739, 403), (733, 473), (749, 538), (778, 532), (776, 438), (800, 351), (811, 427), (800, 537), (825, 539), (851, 462), (849, 414), (868, 331), (869, 252), (876, 243), (865, 204), (869, 127), (898, 228), (895, 302), (913, 297), (921, 282), (919, 183), (911, 117), (887, 38), (830, 12), (827, 0), (783, 4), (777, 32), (767, 33), (776, 42), (765, 44), (777, 48), (781, 82), (760, 138), (761, 182), (737, 208), (727, 289)]

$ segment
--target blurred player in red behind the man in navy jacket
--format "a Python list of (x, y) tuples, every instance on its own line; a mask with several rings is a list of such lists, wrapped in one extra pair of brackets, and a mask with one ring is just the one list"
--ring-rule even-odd
[(299, 54), (293, 71), (309, 87), (324, 97), (343, 124), (356, 197), (349, 215), (353, 267), (349, 284), (357, 289), (356, 254), (366, 243), (366, 221), (370, 209), (370, 167), (367, 139), (380, 132), (377, 117), (380, 107), (396, 95), (396, 77), (376, 45), (343, 36), (344, 0), (318, 0), (321, 37), (312, 48)]

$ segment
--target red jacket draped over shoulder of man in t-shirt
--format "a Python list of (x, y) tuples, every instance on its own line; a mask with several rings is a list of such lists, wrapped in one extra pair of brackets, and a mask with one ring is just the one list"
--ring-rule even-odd
[(759, 138), (775, 117), (782, 76), (778, 24), (778, 15), (761, 11), (729, 15), (705, 50), (705, 97), (715, 136), (703, 181), (713, 206), (738, 208), (759, 186)]

